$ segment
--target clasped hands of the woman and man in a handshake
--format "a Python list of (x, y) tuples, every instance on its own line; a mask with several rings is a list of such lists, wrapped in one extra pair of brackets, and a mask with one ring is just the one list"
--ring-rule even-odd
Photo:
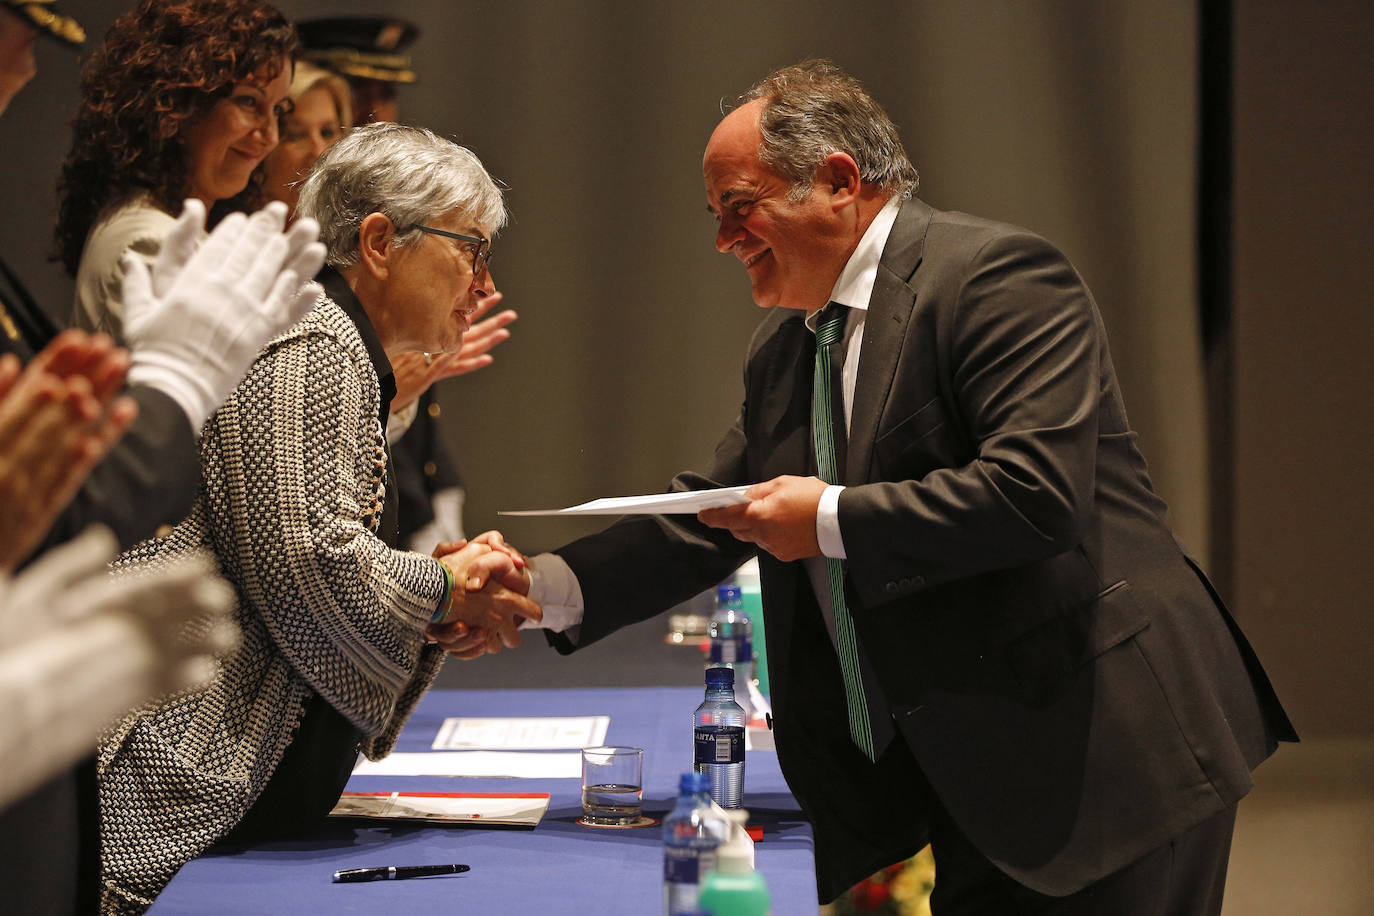
[(460, 659), (474, 659), (519, 645), (519, 625), (539, 622), (544, 611), (529, 600), (529, 562), (500, 531), (434, 548), (453, 581), (448, 599), (425, 639)]

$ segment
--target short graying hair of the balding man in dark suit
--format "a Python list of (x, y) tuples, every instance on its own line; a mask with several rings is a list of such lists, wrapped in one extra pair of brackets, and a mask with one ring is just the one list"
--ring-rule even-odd
[(831, 152), (848, 152), (867, 184), (910, 198), (919, 176), (901, 147), (897, 125), (867, 89), (830, 60), (802, 60), (768, 74), (739, 102), (763, 99), (758, 161), (791, 180), (794, 201)]

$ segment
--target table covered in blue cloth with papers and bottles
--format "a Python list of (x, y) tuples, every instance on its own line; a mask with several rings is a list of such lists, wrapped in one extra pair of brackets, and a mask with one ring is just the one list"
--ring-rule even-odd
[[(695, 688), (430, 691), (396, 750), (425, 751), (449, 715), (610, 715), (607, 744), (644, 748), (644, 813), (662, 818), (691, 768)], [(153, 906), (174, 913), (660, 913), (660, 828), (605, 829), (576, 823), (577, 779), (354, 776), (349, 791), (548, 792), (534, 829), (365, 825), (331, 820), (291, 842), (221, 845), (191, 861)], [(756, 862), (772, 912), (816, 913), (811, 827), (787, 791), (772, 751), (746, 755), (745, 806), (764, 828)], [(334, 884), (339, 868), (464, 862), (466, 875)]]

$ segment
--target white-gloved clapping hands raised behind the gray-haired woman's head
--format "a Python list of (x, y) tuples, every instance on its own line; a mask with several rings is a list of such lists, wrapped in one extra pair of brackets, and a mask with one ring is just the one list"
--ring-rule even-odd
[(199, 431), (243, 380), (258, 350), (309, 312), (324, 264), (319, 224), (286, 205), (231, 213), (198, 244), (205, 205), (187, 201), (151, 273), (124, 255), (124, 336), (129, 383), (172, 397)]

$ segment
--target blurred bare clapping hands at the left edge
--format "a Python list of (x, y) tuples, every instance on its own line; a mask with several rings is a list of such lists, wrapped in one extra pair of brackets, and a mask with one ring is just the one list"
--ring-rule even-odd
[(15, 569), (137, 416), (117, 397), (126, 352), (104, 335), (58, 335), (27, 367), (0, 358), (0, 571)]

